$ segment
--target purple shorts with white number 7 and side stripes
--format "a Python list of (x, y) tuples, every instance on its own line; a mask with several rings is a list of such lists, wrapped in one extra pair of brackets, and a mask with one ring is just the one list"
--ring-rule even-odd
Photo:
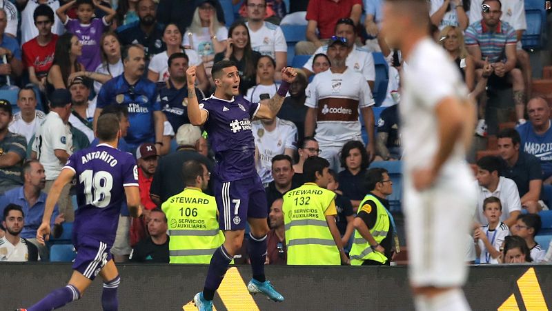
[(237, 181), (214, 179), (221, 230), (244, 230), (248, 217), (268, 217), (263, 183), (259, 175)]

